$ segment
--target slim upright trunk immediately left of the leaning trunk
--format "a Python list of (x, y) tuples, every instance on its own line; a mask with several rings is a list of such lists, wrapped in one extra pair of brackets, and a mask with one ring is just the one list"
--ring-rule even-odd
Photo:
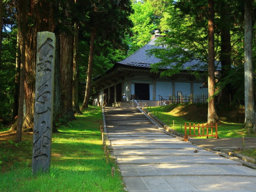
[(82, 114), (78, 105), (78, 77), (79, 77), (79, 66), (78, 66), (78, 32), (79, 32), (78, 20), (75, 21), (75, 36), (74, 36), (74, 59), (73, 59), (73, 89), (72, 89), (72, 100), (73, 100), (73, 111), (74, 113)]

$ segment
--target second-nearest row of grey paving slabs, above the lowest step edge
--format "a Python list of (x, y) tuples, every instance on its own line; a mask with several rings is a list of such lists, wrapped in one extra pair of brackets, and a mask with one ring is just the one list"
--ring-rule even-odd
[[(191, 174), (216, 174), (256, 177), (255, 171), (244, 166), (237, 165), (213, 165), (213, 164), (120, 164), (120, 171), (123, 177), (140, 174), (170, 174), (170, 175), (191, 175)], [(255, 178), (256, 180), (256, 178)]]

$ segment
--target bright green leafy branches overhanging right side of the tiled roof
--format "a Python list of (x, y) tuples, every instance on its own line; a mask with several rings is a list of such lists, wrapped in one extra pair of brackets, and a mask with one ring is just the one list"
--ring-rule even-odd
[[(190, 3), (192, 4), (192, 3)], [(177, 3), (176, 6), (179, 4)], [(200, 2), (204, 7), (204, 2)], [(206, 4), (207, 5), (207, 4)], [(195, 6), (199, 6), (196, 4)], [(205, 18), (205, 10), (199, 9), (196, 13), (186, 14), (180, 8), (175, 7), (175, 4), (169, 6), (167, 12), (163, 14), (160, 26), (162, 30), (167, 31), (164, 38), (158, 39), (158, 45), (166, 46), (166, 49), (153, 49), (151, 54), (154, 54), (162, 61), (151, 65), (153, 72), (158, 72), (159, 69), (170, 67), (170, 70), (162, 72), (162, 76), (172, 76), (180, 73), (183, 70), (183, 64), (191, 60), (198, 61), (194, 66), (186, 68), (198, 68), (198, 70), (207, 70), (208, 67), (208, 36), (207, 36), (207, 18)], [(197, 15), (195, 15), (197, 14)], [(198, 19), (199, 14), (202, 18)], [(219, 58), (218, 50), (220, 36), (215, 35), (215, 59)], [(205, 65), (199, 67), (205, 62)]]

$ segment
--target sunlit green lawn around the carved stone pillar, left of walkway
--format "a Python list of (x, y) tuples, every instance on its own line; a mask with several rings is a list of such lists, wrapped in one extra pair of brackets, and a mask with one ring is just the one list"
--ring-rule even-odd
[[(47, 174), (32, 176), (32, 133), (0, 130), (0, 191), (124, 191), (124, 181), (106, 164), (100, 136), (100, 108), (90, 107), (70, 126), (52, 135), (52, 164)], [(111, 159), (112, 166), (116, 166)]]

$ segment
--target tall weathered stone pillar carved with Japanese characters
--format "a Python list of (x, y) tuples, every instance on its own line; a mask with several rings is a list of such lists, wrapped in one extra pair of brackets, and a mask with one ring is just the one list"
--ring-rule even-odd
[(32, 172), (48, 172), (52, 153), (55, 35), (37, 33)]

